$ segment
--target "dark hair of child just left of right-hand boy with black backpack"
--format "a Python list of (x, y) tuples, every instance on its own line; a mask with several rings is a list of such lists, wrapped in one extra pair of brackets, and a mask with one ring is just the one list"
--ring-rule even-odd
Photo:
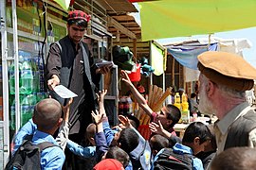
[(169, 141), (167, 138), (159, 134), (155, 134), (150, 139), (150, 146), (152, 150), (156, 150), (157, 152), (159, 152), (162, 148), (169, 146)]

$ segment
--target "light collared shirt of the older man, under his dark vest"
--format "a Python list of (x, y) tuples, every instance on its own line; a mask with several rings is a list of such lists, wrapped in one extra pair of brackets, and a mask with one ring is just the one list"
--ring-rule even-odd
[[(218, 120), (214, 124), (214, 131), (216, 135), (216, 143), (217, 143), (217, 154), (224, 150), (227, 136), (229, 133), (229, 127), (231, 124), (240, 116), (247, 113), (248, 110), (251, 110), (247, 102), (241, 103), (236, 106), (234, 109), (230, 110), (228, 114), (222, 120)], [(256, 146), (256, 128), (249, 132), (248, 136), (248, 146), (255, 147)]]

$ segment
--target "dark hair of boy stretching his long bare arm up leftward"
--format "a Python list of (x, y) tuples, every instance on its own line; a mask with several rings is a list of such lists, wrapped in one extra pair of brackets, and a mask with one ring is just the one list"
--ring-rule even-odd
[(178, 123), (178, 121), (181, 117), (181, 112), (177, 107), (175, 107), (174, 105), (171, 105), (171, 104), (168, 104), (165, 107), (167, 110), (167, 119), (173, 121), (173, 123), (170, 125), (170, 127), (174, 127), (174, 125), (176, 123)]

